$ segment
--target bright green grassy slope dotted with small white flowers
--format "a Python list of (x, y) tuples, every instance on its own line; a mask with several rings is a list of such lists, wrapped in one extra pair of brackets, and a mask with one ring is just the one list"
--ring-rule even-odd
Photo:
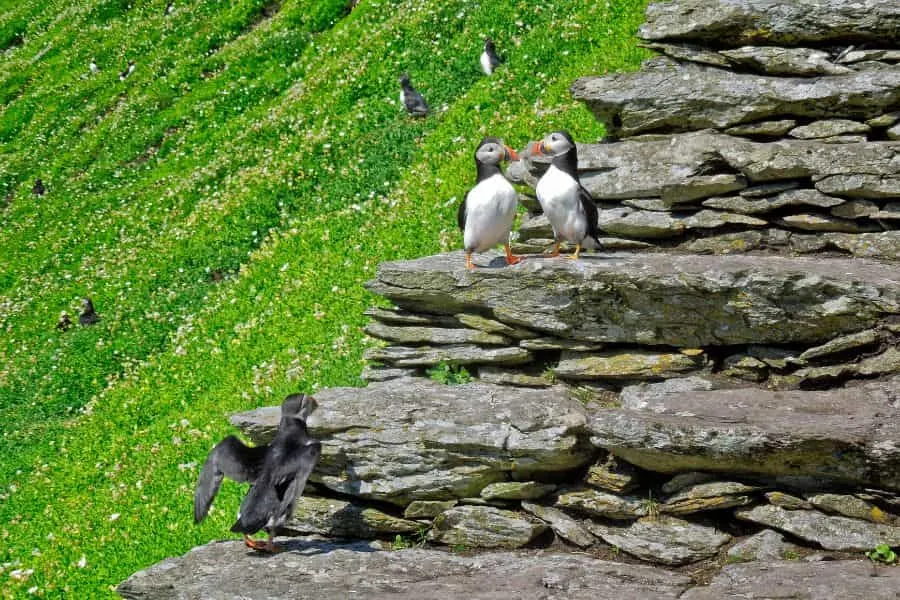
[[(640, 0), (266, 4), (0, 0), (4, 596), (108, 593), (225, 536), (238, 486), (200, 527), (190, 504), (227, 415), (358, 384), (361, 284), (458, 246), (477, 140), (598, 138), (568, 84), (642, 57)], [(403, 69), (446, 110), (402, 115)], [(57, 333), (87, 294), (101, 323)]]

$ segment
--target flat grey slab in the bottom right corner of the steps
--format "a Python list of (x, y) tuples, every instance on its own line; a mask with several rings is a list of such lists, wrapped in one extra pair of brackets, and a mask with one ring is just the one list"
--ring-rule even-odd
[(873, 571), (867, 560), (760, 561), (728, 565), (708, 586), (688, 590), (681, 600), (893, 600), (898, 585), (900, 569)]

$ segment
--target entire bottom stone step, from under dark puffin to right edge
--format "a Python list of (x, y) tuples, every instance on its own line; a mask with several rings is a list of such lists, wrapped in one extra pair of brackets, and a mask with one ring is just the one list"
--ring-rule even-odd
[(708, 586), (696, 586), (687, 574), (580, 554), (386, 552), (315, 538), (284, 544), (287, 551), (263, 558), (241, 542), (213, 542), (135, 573), (117, 591), (131, 600), (893, 600), (900, 586), (900, 569), (864, 560), (729, 565)]

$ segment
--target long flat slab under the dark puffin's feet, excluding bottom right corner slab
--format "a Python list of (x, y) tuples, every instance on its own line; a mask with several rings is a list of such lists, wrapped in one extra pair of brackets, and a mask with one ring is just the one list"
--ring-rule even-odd
[(675, 600), (685, 575), (648, 565), (542, 551), (459, 556), (439, 550), (375, 551), (364, 544), (291, 540), (274, 556), (242, 542), (213, 542), (132, 575), (132, 600)]

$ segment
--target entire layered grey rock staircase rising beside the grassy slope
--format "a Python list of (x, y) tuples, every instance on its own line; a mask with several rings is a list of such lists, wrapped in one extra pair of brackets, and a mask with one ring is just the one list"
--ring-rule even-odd
[[(371, 383), (316, 394), (322, 458), (283, 533), (380, 544), (211, 544), (120, 593), (896, 596), (862, 552), (900, 546), (900, 9), (678, 0), (639, 35), (664, 56), (573, 86), (611, 134), (579, 148), (604, 250), (368, 284), (390, 304), (367, 311)], [(255, 443), (277, 422), (233, 418)]]

